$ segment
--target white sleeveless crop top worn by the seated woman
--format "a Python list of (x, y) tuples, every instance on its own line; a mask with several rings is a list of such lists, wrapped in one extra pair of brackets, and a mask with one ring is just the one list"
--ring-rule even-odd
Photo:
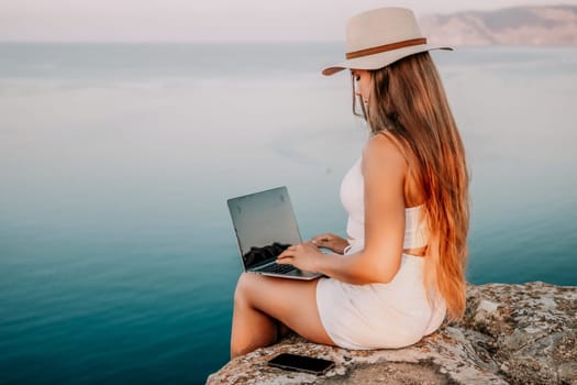
[[(346, 232), (355, 249), (365, 241), (365, 186), (358, 161), (351, 167), (341, 184), (341, 201), (348, 212)], [(419, 249), (425, 246), (429, 240), (426, 223), (421, 220), (422, 206), (404, 209), (404, 241), (403, 249)]]

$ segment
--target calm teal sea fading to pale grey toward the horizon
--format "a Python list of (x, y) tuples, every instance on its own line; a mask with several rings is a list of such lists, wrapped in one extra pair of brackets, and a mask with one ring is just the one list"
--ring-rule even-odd
[[(0, 383), (197, 384), (229, 359), (225, 199), (344, 233), (366, 128), (340, 44), (0, 44)], [(468, 280), (577, 285), (577, 50), (435, 53), (473, 175)]]

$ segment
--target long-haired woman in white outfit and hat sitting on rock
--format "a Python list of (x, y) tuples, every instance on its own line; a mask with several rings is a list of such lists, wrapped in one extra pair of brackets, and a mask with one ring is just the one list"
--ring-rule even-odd
[[(231, 355), (287, 330), (347, 349), (401, 348), (465, 308), (468, 176), (455, 121), (410, 10), (384, 8), (347, 24), (346, 61), (371, 135), (344, 177), (345, 240), (321, 234), (278, 257), (313, 282), (241, 276)], [(451, 50), (451, 48), (447, 48)], [(356, 112), (355, 112), (356, 113)], [(323, 254), (319, 248), (333, 251)]]

